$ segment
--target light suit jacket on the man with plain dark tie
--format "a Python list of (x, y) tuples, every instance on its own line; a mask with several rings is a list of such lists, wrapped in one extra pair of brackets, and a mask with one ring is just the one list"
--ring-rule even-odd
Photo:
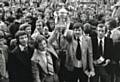
[[(73, 32), (73, 31), (72, 31)], [(72, 33), (70, 32), (70, 33)], [(74, 34), (71, 34), (74, 37)], [(91, 38), (88, 36), (83, 35), (82, 36), (82, 42), (81, 42), (81, 51), (82, 51), (82, 67), (83, 70), (88, 70), (88, 66), (90, 68), (90, 71), (94, 71), (93, 67), (93, 52), (92, 52), (92, 42)], [(78, 60), (76, 58), (76, 49), (77, 49), (77, 41), (72, 38), (72, 42), (67, 44), (67, 54), (66, 54), (66, 62), (65, 66), (69, 71), (72, 71), (74, 67), (77, 66)], [(87, 62), (89, 61), (89, 62)]]

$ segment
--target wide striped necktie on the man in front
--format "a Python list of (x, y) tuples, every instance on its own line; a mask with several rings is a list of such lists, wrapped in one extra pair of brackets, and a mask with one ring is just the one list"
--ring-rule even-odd
[(53, 61), (49, 53), (47, 53), (47, 69), (49, 75), (54, 75)]

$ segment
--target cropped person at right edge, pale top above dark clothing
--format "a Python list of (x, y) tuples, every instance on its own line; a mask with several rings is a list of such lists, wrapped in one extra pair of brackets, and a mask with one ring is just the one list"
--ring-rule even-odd
[(114, 61), (116, 82), (120, 82), (120, 27), (111, 30), (111, 36), (114, 44)]

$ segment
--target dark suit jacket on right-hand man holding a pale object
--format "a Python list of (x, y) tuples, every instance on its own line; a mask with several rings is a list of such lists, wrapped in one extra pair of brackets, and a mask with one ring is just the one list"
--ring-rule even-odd
[[(99, 59), (100, 55), (98, 54), (98, 39), (97, 37), (92, 38), (92, 45), (93, 45), (93, 60)], [(113, 41), (110, 38), (105, 37), (104, 39), (104, 53), (103, 57), (105, 59), (110, 59), (111, 62), (113, 60)], [(108, 72), (111, 72), (112, 66), (111, 63), (105, 67)]]

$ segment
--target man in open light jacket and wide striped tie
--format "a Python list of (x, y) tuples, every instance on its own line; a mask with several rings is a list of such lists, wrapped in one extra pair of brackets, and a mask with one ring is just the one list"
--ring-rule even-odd
[(51, 45), (48, 44), (47, 39), (44, 36), (38, 35), (31, 59), (33, 82), (59, 82), (57, 60), (58, 55)]

